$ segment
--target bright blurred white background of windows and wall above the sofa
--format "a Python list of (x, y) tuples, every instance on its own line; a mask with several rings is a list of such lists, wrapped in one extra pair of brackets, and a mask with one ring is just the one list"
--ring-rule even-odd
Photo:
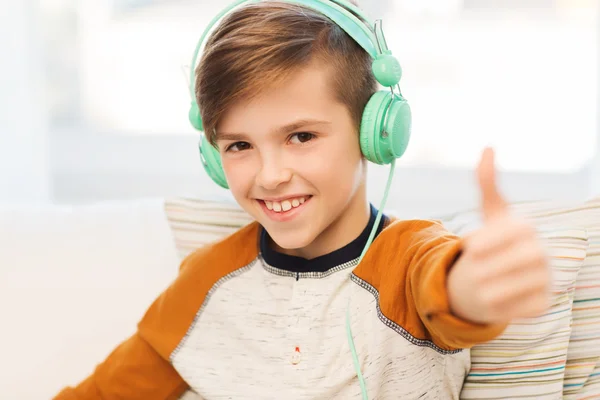
[[(4, 0), (0, 202), (228, 196), (201, 169), (184, 73), (221, 5)], [(511, 200), (600, 193), (596, 1), (362, 5), (384, 20), (414, 112), (390, 208), (472, 206), (485, 145)], [(387, 172), (370, 169), (373, 201)]]

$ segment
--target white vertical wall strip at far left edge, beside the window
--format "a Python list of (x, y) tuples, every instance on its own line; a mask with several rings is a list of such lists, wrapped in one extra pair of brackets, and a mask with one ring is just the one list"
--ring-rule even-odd
[[(34, 0), (0, 2), (0, 200), (49, 198), (46, 115)], [(7, 56), (9, 55), (9, 56)]]

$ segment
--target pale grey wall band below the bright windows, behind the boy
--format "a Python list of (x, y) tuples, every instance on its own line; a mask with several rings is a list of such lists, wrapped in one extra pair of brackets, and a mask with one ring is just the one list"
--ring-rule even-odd
[[(379, 16), (372, 1), (361, 4), (368, 14)], [(600, 110), (600, 102), (598, 107)], [(568, 174), (502, 172), (500, 184), (504, 193), (511, 201), (579, 200), (599, 195), (600, 129), (597, 137), (598, 151), (588, 168)], [(557, 139), (568, 140), (568, 136)], [(53, 135), (50, 145), (53, 199), (58, 202), (139, 196), (229, 196), (204, 174), (193, 136), (63, 132)], [(371, 167), (370, 175), (371, 200), (378, 204), (387, 169)], [(473, 207), (478, 201), (473, 175), (467, 169), (409, 168), (400, 162), (388, 207), (407, 217)]]

